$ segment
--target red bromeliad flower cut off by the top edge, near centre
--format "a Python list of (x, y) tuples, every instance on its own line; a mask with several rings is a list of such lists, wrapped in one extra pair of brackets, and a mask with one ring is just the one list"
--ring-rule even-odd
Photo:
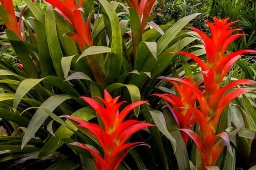
[(128, 6), (134, 8), (140, 18), (141, 31), (144, 32), (144, 28), (147, 25), (146, 19), (153, 11), (156, 0), (126, 0)]

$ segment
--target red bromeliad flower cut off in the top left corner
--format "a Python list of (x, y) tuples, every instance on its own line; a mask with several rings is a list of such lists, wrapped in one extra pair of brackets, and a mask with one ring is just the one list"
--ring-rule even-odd
[(20, 32), (23, 11), (20, 13), (20, 18), (17, 22), (12, 0), (0, 0), (0, 2), (0, 17), (3, 20), (6, 28), (14, 31), (15, 34), (20, 38), (20, 40), (23, 40)]

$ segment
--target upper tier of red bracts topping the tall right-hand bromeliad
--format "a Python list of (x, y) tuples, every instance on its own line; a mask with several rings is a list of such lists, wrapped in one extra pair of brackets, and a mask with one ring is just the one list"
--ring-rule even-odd
[(201, 42), (204, 44), (206, 50), (206, 63), (194, 54), (184, 51), (177, 52), (194, 59), (195, 62), (197, 62), (201, 67), (206, 84), (205, 93), (207, 98), (214, 94), (218, 88), (220, 88), (221, 82), (224, 76), (227, 74), (227, 71), (238, 59), (241, 58), (241, 56), (239, 56), (240, 54), (256, 53), (256, 50), (246, 49), (225, 54), (225, 51), (230, 43), (244, 34), (231, 35), (233, 32), (240, 29), (229, 29), (233, 23), (236, 23), (227, 23), (229, 18), (218, 20), (217, 18), (213, 17), (213, 20), (215, 24), (207, 22), (211, 31), (211, 37), (208, 37), (203, 31), (196, 28), (190, 28), (193, 31), (196, 31), (201, 37)]

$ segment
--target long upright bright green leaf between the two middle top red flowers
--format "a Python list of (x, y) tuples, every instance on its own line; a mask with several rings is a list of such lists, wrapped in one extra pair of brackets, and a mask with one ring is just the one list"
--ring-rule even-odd
[[(117, 82), (122, 66), (122, 34), (119, 19), (107, 0), (99, 0), (111, 24), (111, 54), (107, 62), (107, 85)], [(104, 16), (105, 17), (105, 16)], [(118, 23), (118, 24), (117, 24)]]

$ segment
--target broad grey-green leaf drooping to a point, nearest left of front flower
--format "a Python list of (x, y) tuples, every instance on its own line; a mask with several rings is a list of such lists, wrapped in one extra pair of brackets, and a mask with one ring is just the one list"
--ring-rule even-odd
[[(55, 108), (58, 107), (58, 105), (60, 105), (62, 102), (70, 98), (71, 97), (67, 95), (51, 96), (40, 106), (40, 108), (46, 108), (49, 111), (54, 111)], [(35, 133), (41, 127), (41, 125), (44, 123), (47, 117), (48, 117), (48, 114), (45, 113), (45, 111), (42, 109), (38, 109), (35, 112), (34, 116), (29, 122), (26, 133), (23, 137), (21, 148), (23, 148), (29, 142), (29, 140), (35, 135)]]

